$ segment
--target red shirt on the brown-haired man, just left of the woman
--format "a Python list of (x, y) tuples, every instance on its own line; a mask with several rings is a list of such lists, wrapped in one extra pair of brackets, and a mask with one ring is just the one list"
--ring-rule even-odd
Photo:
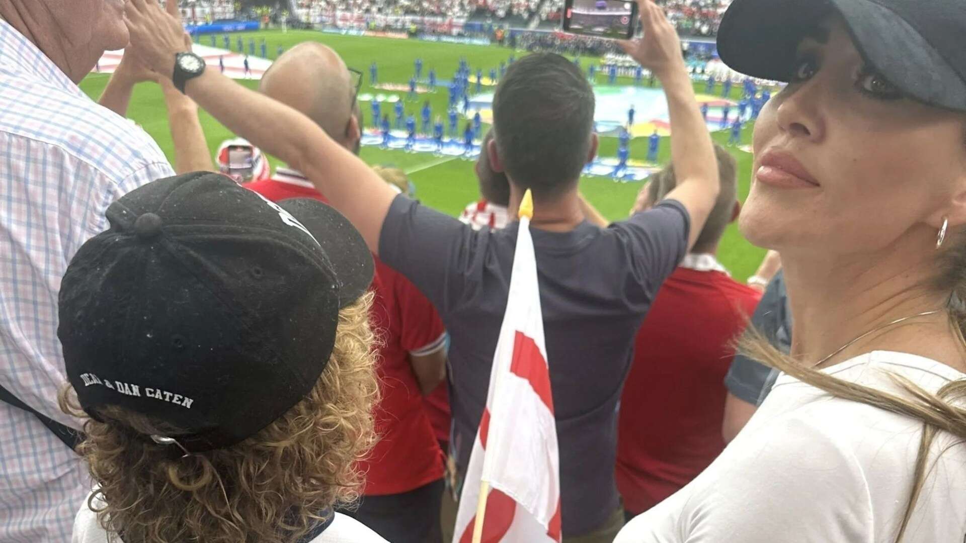
[(760, 297), (725, 272), (686, 268), (661, 287), (620, 400), (616, 479), (628, 511), (665, 500), (724, 450), (731, 341)]

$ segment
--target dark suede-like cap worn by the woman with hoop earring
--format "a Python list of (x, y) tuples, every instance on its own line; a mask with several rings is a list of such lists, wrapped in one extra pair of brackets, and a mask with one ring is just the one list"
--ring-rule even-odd
[(735, 0), (718, 31), (718, 53), (735, 71), (787, 82), (798, 43), (835, 11), (867, 62), (899, 90), (929, 105), (966, 111), (963, 79), (915, 28), (871, 0)]

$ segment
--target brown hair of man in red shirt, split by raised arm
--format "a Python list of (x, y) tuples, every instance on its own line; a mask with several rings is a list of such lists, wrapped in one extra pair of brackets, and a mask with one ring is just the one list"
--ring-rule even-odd
[[(718, 177), (721, 179), (721, 191), (718, 193), (718, 200), (715, 207), (708, 215), (704, 228), (698, 234), (695, 242), (696, 252), (709, 250), (721, 241), (725, 234), (725, 228), (731, 222), (731, 213), (734, 210), (734, 203), (738, 200), (738, 162), (721, 145), (715, 144), (715, 157), (718, 159)], [(664, 171), (655, 175), (655, 183), (660, 181), (657, 195), (651, 201), (657, 203), (659, 200), (668, 196), (668, 192), (677, 186), (677, 178), (674, 176), (674, 165), (668, 165)], [(654, 194), (651, 192), (651, 194)]]

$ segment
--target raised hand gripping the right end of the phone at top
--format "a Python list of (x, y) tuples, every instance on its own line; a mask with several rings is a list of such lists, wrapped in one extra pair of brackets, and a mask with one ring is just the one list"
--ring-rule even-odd
[(624, 52), (640, 66), (663, 79), (673, 71), (685, 71), (681, 39), (668, 21), (668, 16), (654, 0), (637, 0), (642, 36), (633, 42), (622, 41)]

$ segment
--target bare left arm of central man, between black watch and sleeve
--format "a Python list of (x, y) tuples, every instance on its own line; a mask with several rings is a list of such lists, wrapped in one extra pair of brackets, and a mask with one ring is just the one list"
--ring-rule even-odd
[(209, 70), (191, 79), (188, 96), (228, 129), (297, 168), (379, 250), (396, 192), (365, 162), (295, 109)]

